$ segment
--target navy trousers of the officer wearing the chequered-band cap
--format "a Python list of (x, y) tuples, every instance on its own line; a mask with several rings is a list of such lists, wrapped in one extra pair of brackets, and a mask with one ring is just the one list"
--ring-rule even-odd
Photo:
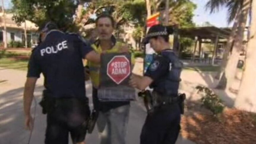
[(140, 144), (175, 144), (180, 131), (178, 103), (158, 107), (147, 115), (140, 134)]

